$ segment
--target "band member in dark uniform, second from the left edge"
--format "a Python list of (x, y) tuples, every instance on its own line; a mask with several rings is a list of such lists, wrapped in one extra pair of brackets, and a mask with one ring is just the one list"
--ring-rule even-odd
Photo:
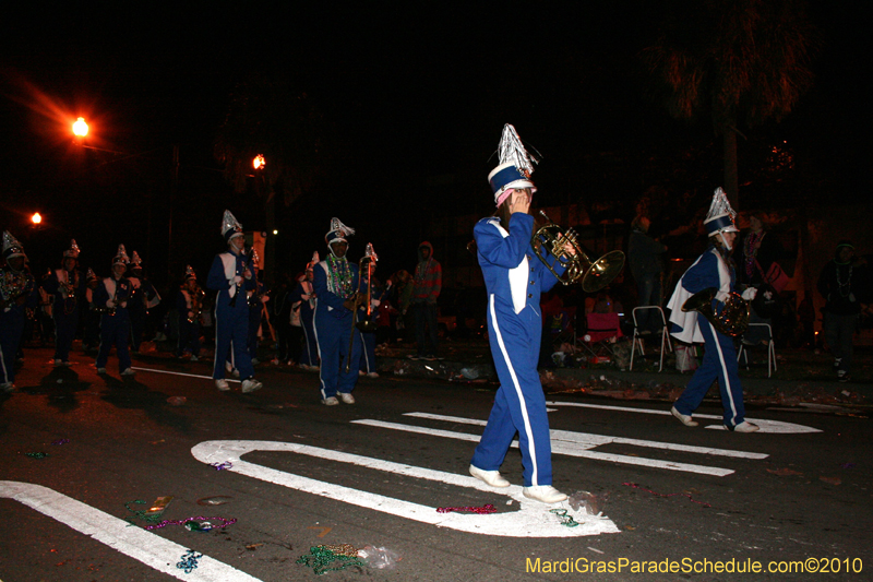
[(79, 326), (79, 312), (85, 297), (85, 277), (76, 269), (79, 264), (79, 245), (70, 241), (70, 248), (63, 251), (63, 264), (51, 272), (43, 282), (43, 288), (53, 296), (52, 314), (55, 317), (55, 366), (70, 366), (70, 347)]

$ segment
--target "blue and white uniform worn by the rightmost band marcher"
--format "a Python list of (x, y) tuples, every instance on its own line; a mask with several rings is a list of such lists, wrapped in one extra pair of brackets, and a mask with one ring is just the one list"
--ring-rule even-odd
[[(695, 293), (708, 287), (722, 290), (727, 290), (729, 287), (729, 290), (732, 292), (736, 283), (737, 274), (733, 268), (719, 254), (718, 249), (710, 247), (682, 275), (673, 299), (670, 300), (670, 306), (675, 313), (677, 309), (681, 308), (681, 304), (684, 304), (687, 297)], [(716, 312), (725, 307), (717, 300), (713, 301), (713, 306)], [(690, 313), (693, 313), (693, 317), (690, 317)], [(681, 317), (677, 314), (675, 318), (672, 316), (670, 318), (673, 321), (670, 332), (672, 335), (683, 341), (689, 341), (686, 338), (698, 341), (699, 336), (692, 336), (696, 335), (694, 334), (696, 325), (706, 345), (699, 368), (694, 372), (685, 391), (673, 406), (681, 414), (690, 416), (701, 405), (713, 382), (718, 380), (721, 404), (725, 407), (725, 426), (732, 430), (745, 419), (743, 387), (737, 369), (737, 348), (733, 346), (732, 337), (718, 332), (706, 318), (696, 316), (696, 312), (687, 312), (682, 313)], [(677, 323), (680, 319), (684, 326)]]

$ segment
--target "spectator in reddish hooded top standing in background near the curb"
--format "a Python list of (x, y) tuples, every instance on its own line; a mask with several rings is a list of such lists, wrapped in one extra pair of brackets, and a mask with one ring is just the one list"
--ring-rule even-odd
[(433, 258), (433, 246), (427, 240), (418, 246), (418, 264), (414, 277), (411, 307), (416, 318), (416, 346), (412, 359), (436, 359), (436, 298), (443, 282), (443, 270)]

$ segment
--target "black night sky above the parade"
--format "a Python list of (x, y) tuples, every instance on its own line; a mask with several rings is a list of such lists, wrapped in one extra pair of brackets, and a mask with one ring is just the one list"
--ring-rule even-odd
[[(504, 122), (546, 156), (535, 175), (541, 202), (595, 195), (588, 177), (576, 175), (579, 156), (718, 143), (705, 122), (673, 121), (645, 96), (636, 55), (673, 4), (468, 4), (16, 8), (0, 36), (2, 228), (21, 233), (23, 217), (40, 210), (52, 226), (41, 238), (20, 237), (32, 238), (32, 256), (45, 251), (53, 261), (74, 236), (84, 265), (108, 265), (123, 238), (164, 265), (169, 156), (180, 144), (174, 236), (182, 248), (175, 260), (205, 269), (220, 250), (225, 206), (247, 228), (262, 227), (260, 201), (232, 195), (212, 156), (229, 92), (255, 70), (290, 73), (347, 156), (318, 192), (282, 211), (279, 226), (292, 233), (284, 253), (300, 266), (323, 251), (333, 215), (359, 229), (361, 248), (372, 240), (392, 268), (408, 269), (409, 247), (428, 236), (432, 213), (490, 213), (486, 176)], [(871, 183), (861, 88), (868, 35), (853, 13), (860, 2), (824, 4), (813, 8), (825, 41), (816, 85), (792, 116), (760, 133), (790, 140), (799, 164), (829, 168), (838, 191), (827, 194), (857, 199)], [(150, 154), (118, 161), (83, 153), (67, 134), (67, 119), (77, 115), (89, 120), (95, 145)], [(429, 177), (449, 174), (481, 182), (424, 195)], [(617, 183), (610, 195), (632, 200), (646, 186)]]

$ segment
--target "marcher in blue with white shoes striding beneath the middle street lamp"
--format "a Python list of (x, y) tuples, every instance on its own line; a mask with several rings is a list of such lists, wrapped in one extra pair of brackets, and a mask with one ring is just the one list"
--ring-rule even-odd
[(254, 379), (254, 367), (247, 345), (249, 302), (246, 300), (246, 292), (254, 289), (254, 281), (252, 281), (251, 259), (243, 252), (246, 237), (242, 234), (242, 225), (229, 210), (225, 211), (222, 221), (222, 234), (227, 241), (228, 251), (215, 256), (206, 278), (206, 286), (217, 292), (215, 365), (212, 377), (218, 390), (230, 390), (225, 380), (225, 363), (232, 347), (234, 363), (242, 378), (242, 392), (253, 392), (263, 388), (263, 384)]

